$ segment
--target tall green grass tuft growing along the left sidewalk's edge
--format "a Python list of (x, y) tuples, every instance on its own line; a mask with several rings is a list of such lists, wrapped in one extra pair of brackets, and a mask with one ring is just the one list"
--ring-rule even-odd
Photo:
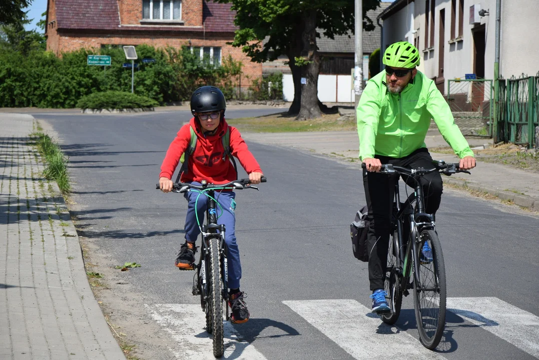
[(55, 180), (62, 194), (69, 194), (71, 192), (71, 181), (67, 172), (69, 158), (64, 155), (49, 135), (43, 132), (33, 132), (30, 137), (35, 141), (38, 151), (45, 159), (46, 166), (43, 171), (45, 179)]

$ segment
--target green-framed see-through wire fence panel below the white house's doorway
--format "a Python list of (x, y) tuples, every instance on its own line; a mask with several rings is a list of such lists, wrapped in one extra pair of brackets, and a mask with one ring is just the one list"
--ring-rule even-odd
[(492, 137), (492, 80), (447, 80), (447, 103), (464, 136)]

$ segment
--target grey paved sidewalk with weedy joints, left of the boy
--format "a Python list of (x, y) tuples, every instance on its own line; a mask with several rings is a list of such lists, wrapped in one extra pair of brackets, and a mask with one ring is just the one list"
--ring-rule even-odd
[(27, 143), (32, 126), (30, 115), (0, 115), (0, 358), (125, 360), (64, 199)]

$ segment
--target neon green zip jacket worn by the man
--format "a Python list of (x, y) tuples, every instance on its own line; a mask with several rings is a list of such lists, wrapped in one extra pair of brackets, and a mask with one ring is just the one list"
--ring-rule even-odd
[(418, 71), (400, 94), (391, 94), (383, 82), (385, 70), (367, 82), (357, 107), (362, 160), (375, 154), (402, 158), (426, 147), (431, 118), (459, 158), (474, 156), (434, 81)]

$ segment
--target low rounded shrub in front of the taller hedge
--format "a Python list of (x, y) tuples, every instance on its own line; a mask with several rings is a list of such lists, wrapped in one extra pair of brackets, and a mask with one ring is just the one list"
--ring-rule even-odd
[(126, 93), (124, 91), (105, 91), (82, 97), (77, 103), (81, 109), (135, 109), (153, 108), (157, 101), (146, 96)]

